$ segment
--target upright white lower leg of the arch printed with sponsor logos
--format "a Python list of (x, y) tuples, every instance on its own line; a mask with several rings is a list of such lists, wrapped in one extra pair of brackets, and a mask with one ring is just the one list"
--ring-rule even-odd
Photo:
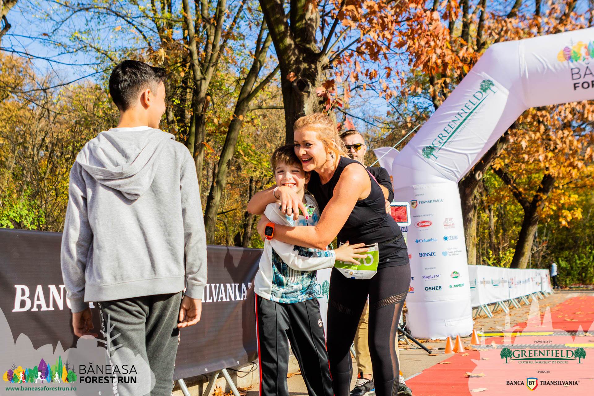
[(406, 299), (412, 335), (470, 334), (472, 310), (462, 211), (459, 204), (457, 208), (446, 203), (460, 200), (457, 184), (410, 186), (395, 191), (395, 199), (410, 202), (413, 218), (407, 244), (413, 279)]

